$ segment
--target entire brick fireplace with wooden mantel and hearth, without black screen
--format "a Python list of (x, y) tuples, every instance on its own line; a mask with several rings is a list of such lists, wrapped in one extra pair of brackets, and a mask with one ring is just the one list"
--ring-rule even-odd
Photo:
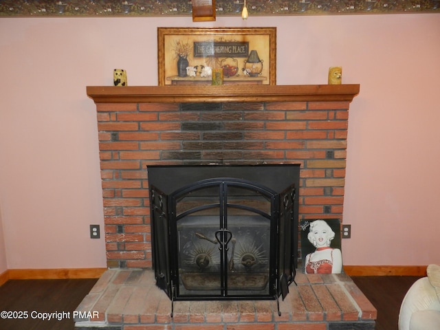
[[(359, 85), (87, 87), (98, 113), (107, 265), (115, 270), (107, 272), (78, 308), (91, 308), (92, 300), (99, 303), (98, 292), (104, 296), (106, 292), (103, 285), (125, 285), (133, 279), (144, 289), (147, 282), (151, 285), (148, 166), (299, 164), (299, 220), (342, 221), (349, 104), (359, 89)], [(361, 325), (355, 329), (374, 329), (375, 309), (348, 276), (300, 274), (298, 281), (303, 292), (294, 292), (289, 299), (299, 305), (282, 306), (285, 313), (279, 324), (272, 301), (252, 306), (232, 303), (236, 307), (230, 302), (203, 306), (181, 302), (176, 308), (184, 310), (172, 321), (164, 313), (169, 299), (163, 292), (148, 322), (142, 322), (137, 311), (136, 317), (127, 318), (131, 327), (124, 327), (124, 310), (110, 313), (111, 302), (103, 308), (104, 316), (94, 321), (118, 329), (150, 329), (146, 324), (153, 323), (161, 326), (151, 329), (195, 329), (186, 325), (192, 323), (190, 310), (203, 307), (195, 322), (210, 323), (209, 329), (254, 329), (251, 325), (259, 322), (264, 329), (291, 329), (289, 324), (296, 321), (311, 322), (307, 329), (340, 329), (344, 321)], [(327, 293), (322, 291), (326, 286)], [(314, 291), (318, 293), (311, 301), (307, 295)], [(319, 303), (320, 299), (326, 301)], [(167, 326), (179, 320), (181, 327)], [(232, 326), (236, 322), (243, 322), (243, 327)]]

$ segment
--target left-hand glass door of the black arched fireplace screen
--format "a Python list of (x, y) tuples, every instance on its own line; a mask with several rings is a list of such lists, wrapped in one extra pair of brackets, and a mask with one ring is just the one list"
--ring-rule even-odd
[(194, 186), (175, 203), (177, 297), (221, 297), (220, 188)]

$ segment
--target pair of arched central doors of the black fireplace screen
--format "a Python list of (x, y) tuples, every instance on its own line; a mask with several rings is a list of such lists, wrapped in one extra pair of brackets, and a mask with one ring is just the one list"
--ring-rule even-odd
[(274, 298), (276, 194), (217, 178), (177, 191), (171, 200), (176, 298)]

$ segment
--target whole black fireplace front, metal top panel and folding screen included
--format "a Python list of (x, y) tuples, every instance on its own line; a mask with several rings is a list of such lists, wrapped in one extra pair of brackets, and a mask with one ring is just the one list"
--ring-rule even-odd
[(148, 181), (156, 284), (172, 301), (285, 298), (299, 165), (148, 166)]

